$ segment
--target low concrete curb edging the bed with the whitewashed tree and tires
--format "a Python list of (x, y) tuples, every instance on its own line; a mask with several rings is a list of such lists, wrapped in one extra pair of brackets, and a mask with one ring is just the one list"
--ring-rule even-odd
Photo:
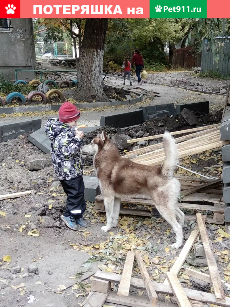
[[(119, 88), (120, 87), (115, 87)], [(91, 109), (91, 108), (98, 108), (98, 107), (113, 107), (113, 106), (120, 106), (121, 104), (134, 104), (137, 102), (141, 102), (143, 100), (143, 94), (140, 94), (135, 91), (126, 90), (127, 92), (133, 93), (138, 95), (139, 97), (124, 100), (124, 101), (116, 101), (116, 102), (86, 102), (86, 103), (75, 103), (74, 105), (79, 109)], [(67, 99), (68, 100), (68, 99)], [(41, 106), (22, 106), (22, 107), (0, 107), (0, 114), (13, 114), (13, 113), (26, 113), (26, 112), (44, 112), (44, 111), (58, 111), (61, 107), (61, 104), (46, 104)]]

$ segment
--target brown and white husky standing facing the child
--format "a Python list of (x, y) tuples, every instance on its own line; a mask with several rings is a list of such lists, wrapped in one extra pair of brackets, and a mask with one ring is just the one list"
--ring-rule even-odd
[(163, 145), (166, 158), (162, 166), (141, 165), (122, 158), (104, 130), (89, 145), (82, 146), (83, 154), (94, 154), (94, 169), (106, 211), (106, 226), (101, 228), (102, 231), (117, 227), (121, 197), (149, 198), (176, 234), (176, 243), (171, 247), (181, 247), (184, 213), (178, 207), (180, 182), (173, 175), (178, 164), (178, 151), (168, 132), (164, 133)]

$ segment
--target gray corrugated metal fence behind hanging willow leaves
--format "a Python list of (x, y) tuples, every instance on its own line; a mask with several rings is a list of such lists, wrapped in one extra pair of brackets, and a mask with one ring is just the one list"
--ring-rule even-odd
[(217, 41), (223, 44), (223, 54), (220, 54), (219, 63), (213, 63), (213, 53), (207, 52), (208, 42), (205, 39), (201, 58), (201, 72), (220, 72), (222, 75), (230, 75), (230, 36), (216, 37)]

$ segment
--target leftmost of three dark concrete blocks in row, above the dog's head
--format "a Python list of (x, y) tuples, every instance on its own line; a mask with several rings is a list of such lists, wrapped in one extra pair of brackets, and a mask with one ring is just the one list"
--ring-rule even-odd
[(100, 126), (112, 126), (124, 128), (142, 123), (143, 110), (133, 110), (130, 112), (121, 112), (113, 115), (101, 116)]

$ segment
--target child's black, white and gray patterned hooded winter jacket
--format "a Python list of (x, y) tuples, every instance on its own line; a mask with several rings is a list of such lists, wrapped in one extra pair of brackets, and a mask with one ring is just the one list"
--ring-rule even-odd
[(59, 119), (49, 118), (45, 132), (51, 140), (51, 158), (59, 180), (70, 180), (83, 174), (81, 146), (84, 140)]

